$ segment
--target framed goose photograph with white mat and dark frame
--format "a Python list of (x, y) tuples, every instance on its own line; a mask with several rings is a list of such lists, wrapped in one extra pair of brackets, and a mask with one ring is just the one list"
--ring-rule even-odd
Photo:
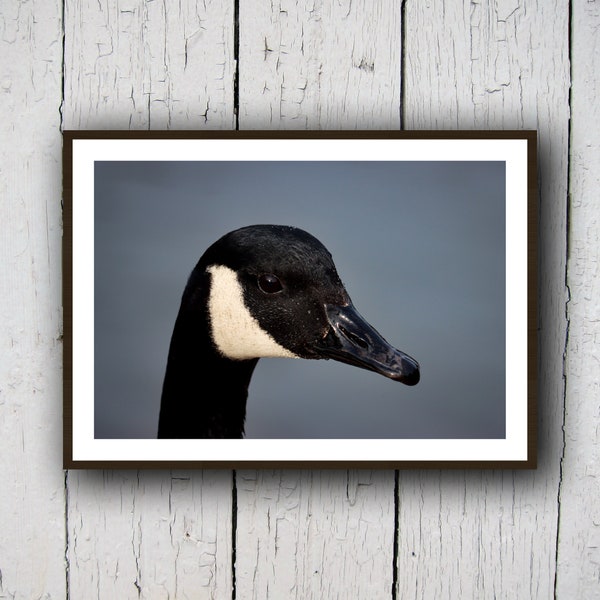
[(534, 131), (64, 132), (65, 468), (535, 468)]

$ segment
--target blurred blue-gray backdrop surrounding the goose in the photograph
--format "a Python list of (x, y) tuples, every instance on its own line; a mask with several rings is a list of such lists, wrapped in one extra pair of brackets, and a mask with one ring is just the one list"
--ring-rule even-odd
[(155, 437), (191, 269), (224, 233), (278, 223), (325, 244), (421, 382), (261, 359), (247, 437), (504, 437), (504, 182), (500, 162), (96, 163), (95, 436)]

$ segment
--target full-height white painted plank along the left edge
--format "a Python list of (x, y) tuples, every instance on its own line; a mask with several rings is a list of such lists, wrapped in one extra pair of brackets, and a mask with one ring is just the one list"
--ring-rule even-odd
[(4, 2), (0, 32), (0, 598), (60, 598), (60, 5)]

